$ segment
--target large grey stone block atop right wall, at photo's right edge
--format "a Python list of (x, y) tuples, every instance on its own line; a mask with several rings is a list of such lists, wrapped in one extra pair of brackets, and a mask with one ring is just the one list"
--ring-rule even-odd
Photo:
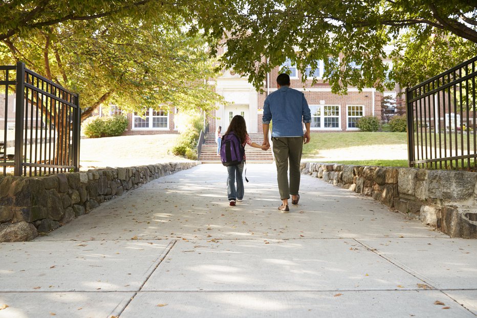
[(428, 180), (427, 194), (429, 198), (458, 202), (473, 196), (477, 173), (432, 170), (428, 173)]

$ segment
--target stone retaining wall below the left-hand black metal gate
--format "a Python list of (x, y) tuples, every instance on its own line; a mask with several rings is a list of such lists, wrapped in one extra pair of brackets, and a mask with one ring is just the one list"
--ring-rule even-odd
[(100, 203), (199, 162), (151, 164), (0, 182), (0, 242), (28, 241), (89, 213)]

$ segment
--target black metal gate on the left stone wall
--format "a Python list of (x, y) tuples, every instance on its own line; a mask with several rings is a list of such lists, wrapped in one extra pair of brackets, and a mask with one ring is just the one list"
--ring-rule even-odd
[(81, 123), (78, 95), (28, 70), (23, 62), (0, 66), (0, 76), (3, 175), (39, 176), (78, 171)]

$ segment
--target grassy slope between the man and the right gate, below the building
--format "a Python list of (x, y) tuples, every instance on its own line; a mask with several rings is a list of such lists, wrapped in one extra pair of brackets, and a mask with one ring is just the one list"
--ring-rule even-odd
[(326, 149), (405, 143), (407, 143), (406, 133), (312, 133), (310, 143), (303, 145), (303, 157), (311, 157), (319, 150)]

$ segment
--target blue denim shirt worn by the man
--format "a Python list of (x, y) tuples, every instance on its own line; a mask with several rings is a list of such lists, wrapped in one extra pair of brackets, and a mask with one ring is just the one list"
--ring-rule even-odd
[(264, 103), (262, 122), (269, 124), (272, 119), (272, 137), (303, 136), (302, 122), (311, 121), (305, 95), (288, 86), (282, 86), (268, 95)]

